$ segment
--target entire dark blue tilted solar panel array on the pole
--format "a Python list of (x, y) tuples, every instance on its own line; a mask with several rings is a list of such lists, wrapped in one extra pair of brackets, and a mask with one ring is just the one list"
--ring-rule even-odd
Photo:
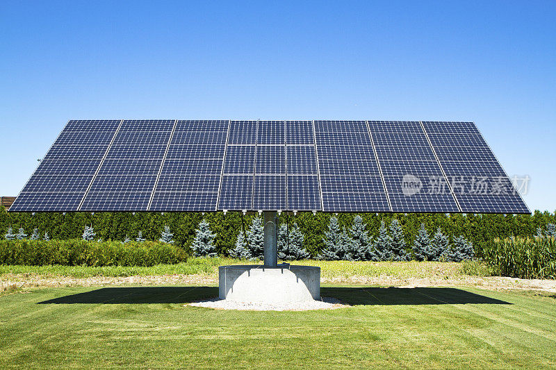
[(471, 122), (70, 121), (11, 212), (529, 213)]

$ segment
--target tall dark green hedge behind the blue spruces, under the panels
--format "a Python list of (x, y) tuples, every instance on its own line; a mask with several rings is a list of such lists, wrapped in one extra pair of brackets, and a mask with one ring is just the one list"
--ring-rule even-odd
[[(316, 256), (324, 248), (322, 236), (327, 230), (329, 219), (333, 214), (317, 212), (298, 212), (296, 216), (280, 217), (281, 222), (289, 218), (290, 223), (296, 222), (305, 237), (304, 246), (311, 255)], [(339, 213), (338, 221), (341, 226), (350, 228), (356, 213)], [(482, 257), (483, 247), (495, 238), (504, 239), (511, 236), (529, 237), (535, 235), (537, 228), (544, 228), (546, 224), (556, 224), (556, 215), (550, 212), (535, 211), (533, 215), (473, 215), (444, 213), (365, 213), (360, 214), (367, 225), (370, 235), (377, 236), (381, 221), (390, 224), (396, 218), (402, 224), (405, 241), (408, 246), (418, 233), (420, 224), (425, 224), (430, 233), (441, 228), (450, 239), (463, 235), (473, 243), (475, 254)], [(245, 216), (245, 226), (249, 227), (253, 216)], [(25, 233), (31, 235), (34, 228), (38, 228), (42, 237), (46, 231), (51, 239), (79, 239), (85, 226), (95, 228), (97, 238), (104, 240), (124, 240), (126, 235), (135, 239), (142, 231), (147, 240), (158, 240), (164, 226), (170, 226), (174, 233), (176, 244), (186, 251), (190, 248), (195, 235), (195, 228), (205, 218), (216, 234), (214, 244), (219, 255), (228, 255), (234, 248), (236, 237), (242, 228), (239, 212), (37, 212), (31, 213), (6, 212), (0, 207), (0, 239), (3, 239), (8, 227), (24, 228)]]

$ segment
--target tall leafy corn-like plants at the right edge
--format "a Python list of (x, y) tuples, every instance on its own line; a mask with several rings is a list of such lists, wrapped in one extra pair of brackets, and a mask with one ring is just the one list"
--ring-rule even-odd
[(556, 239), (514, 237), (494, 239), (484, 248), (484, 262), (497, 274), (514, 278), (556, 278)]

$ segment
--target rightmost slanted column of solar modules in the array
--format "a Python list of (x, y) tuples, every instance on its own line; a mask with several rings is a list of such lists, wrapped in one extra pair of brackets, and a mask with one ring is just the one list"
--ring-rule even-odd
[(424, 121), (423, 128), (461, 212), (529, 212), (475, 124)]

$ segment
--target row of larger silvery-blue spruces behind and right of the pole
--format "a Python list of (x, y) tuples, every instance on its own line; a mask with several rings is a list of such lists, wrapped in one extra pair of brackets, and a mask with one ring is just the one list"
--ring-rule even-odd
[[(203, 220), (195, 232), (193, 253), (197, 256), (215, 256), (213, 243), (215, 234), (208, 222)], [(263, 222), (260, 217), (253, 219), (248, 230), (240, 230), (234, 249), (230, 251), (233, 258), (256, 260), (263, 258), (264, 251)], [(328, 230), (323, 237), (325, 249), (316, 256), (311, 256), (303, 246), (304, 236), (297, 224), (289, 227), (280, 224), (277, 244), (278, 257), (281, 260), (303, 260), (318, 258), (322, 260), (350, 261), (454, 261), (473, 259), (473, 245), (464, 237), (455, 237), (450, 243), (440, 228), (429, 235), (421, 225), (418, 236), (411, 248), (406, 244), (400, 222), (393, 219), (389, 228), (384, 222), (380, 226), (379, 235), (373, 238), (368, 235), (366, 225), (360, 216), (354, 217), (352, 227), (341, 228), (336, 217), (331, 217)]]

